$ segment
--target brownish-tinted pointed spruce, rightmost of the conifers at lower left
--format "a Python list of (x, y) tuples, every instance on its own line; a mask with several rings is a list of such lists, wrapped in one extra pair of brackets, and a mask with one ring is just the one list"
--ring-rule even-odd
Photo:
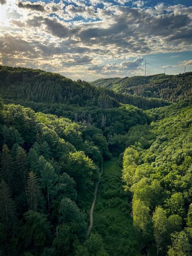
[(36, 175), (30, 171), (27, 181), (27, 199), (29, 208), (33, 211), (37, 211), (37, 204), (40, 196), (40, 188)]

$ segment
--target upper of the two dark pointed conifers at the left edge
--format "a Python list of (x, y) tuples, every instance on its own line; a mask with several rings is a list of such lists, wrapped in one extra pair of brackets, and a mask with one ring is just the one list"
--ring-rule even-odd
[(10, 150), (6, 144), (3, 145), (2, 148), (0, 174), (2, 179), (4, 179), (4, 181), (9, 185), (9, 187), (11, 187), (13, 181), (13, 169), (11, 163)]

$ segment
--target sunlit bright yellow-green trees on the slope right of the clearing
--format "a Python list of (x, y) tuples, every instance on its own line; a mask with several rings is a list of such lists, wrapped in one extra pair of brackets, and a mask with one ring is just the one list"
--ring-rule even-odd
[(141, 241), (156, 241), (157, 254), (165, 255), (174, 232), (185, 228), (191, 233), (186, 221), (191, 202), (191, 105), (178, 103), (154, 113), (156, 122), (143, 126), (144, 132), (141, 126), (128, 132), (122, 179), (133, 195), (134, 225)]

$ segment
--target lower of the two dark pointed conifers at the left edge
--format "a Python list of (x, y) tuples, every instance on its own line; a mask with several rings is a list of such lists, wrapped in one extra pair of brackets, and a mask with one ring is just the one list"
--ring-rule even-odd
[(14, 202), (11, 198), (11, 191), (2, 179), (0, 183), (0, 219), (7, 227), (13, 225), (15, 215)]

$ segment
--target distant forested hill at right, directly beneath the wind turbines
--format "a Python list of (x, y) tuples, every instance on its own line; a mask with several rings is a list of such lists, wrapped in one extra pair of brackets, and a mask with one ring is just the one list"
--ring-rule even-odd
[(102, 78), (91, 84), (113, 89), (118, 93), (136, 94), (144, 97), (162, 98), (176, 102), (192, 96), (192, 72), (179, 75), (149, 75), (124, 78)]

